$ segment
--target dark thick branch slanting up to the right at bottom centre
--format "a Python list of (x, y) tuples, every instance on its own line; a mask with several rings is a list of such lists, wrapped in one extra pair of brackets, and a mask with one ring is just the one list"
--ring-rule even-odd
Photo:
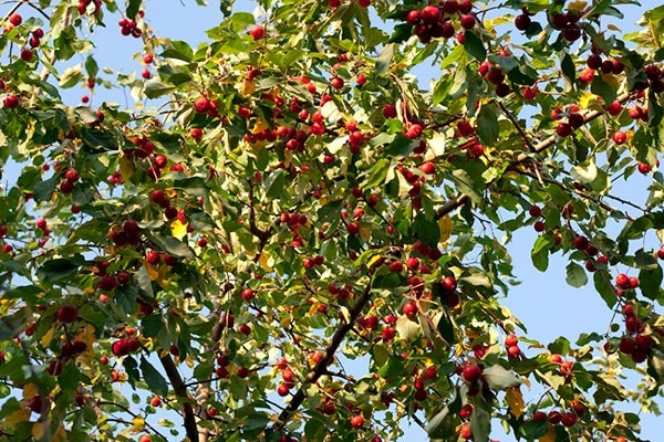
[(321, 376), (328, 373), (328, 366), (330, 365), (330, 362), (332, 362), (334, 355), (339, 349), (339, 346), (341, 345), (341, 343), (343, 343), (343, 339), (349, 334), (349, 332), (353, 329), (353, 325), (360, 317), (362, 309), (369, 303), (369, 299), (371, 298), (370, 293), (371, 285), (367, 285), (360, 298), (357, 299), (357, 302), (355, 302), (353, 307), (350, 309), (349, 320), (344, 325), (339, 327), (336, 329), (336, 333), (334, 333), (334, 335), (332, 336), (328, 348), (325, 348), (323, 358), (319, 360), (318, 364), (313, 367), (313, 369), (311, 369), (311, 371), (307, 373), (307, 377), (300, 386), (300, 389), (295, 392), (295, 394), (293, 394), (288, 407), (286, 407), (283, 411), (281, 411), (281, 414), (279, 414), (279, 423), (277, 425), (278, 429), (283, 428), (290, 419), (290, 417), (300, 408), (300, 406), (307, 398), (307, 393), (304, 392), (307, 390), (307, 386), (310, 383), (314, 383)]

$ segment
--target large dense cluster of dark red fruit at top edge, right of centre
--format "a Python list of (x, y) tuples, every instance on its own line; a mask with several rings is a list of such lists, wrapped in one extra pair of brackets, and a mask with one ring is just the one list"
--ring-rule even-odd
[(461, 28), (473, 29), (476, 19), (470, 11), (470, 0), (442, 0), (438, 6), (426, 6), (422, 10), (411, 10), (406, 15), (406, 22), (413, 27), (413, 33), (421, 42), (428, 43), (432, 39), (449, 39), (456, 30), (452, 18), (459, 15)]

